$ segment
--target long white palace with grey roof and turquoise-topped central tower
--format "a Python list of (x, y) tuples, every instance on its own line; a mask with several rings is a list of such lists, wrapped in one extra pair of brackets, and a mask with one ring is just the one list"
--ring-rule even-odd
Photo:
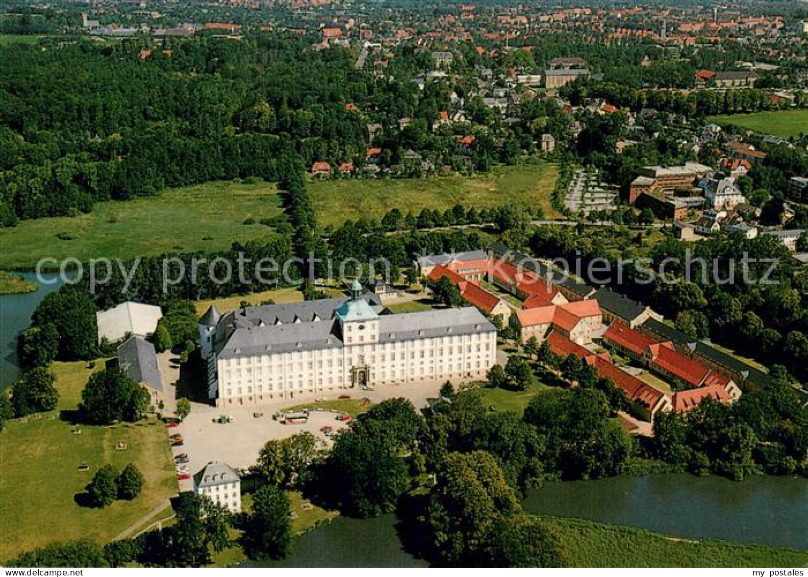
[(497, 332), (479, 310), (380, 314), (354, 281), (351, 297), (265, 305), (200, 319), (208, 396), (216, 406), (307, 398), (351, 388), (485, 377)]

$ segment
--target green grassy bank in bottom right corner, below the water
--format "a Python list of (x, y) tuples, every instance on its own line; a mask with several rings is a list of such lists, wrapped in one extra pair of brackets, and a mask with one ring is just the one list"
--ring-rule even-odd
[(645, 529), (543, 517), (582, 567), (806, 566), (808, 553), (727, 541), (692, 541)]

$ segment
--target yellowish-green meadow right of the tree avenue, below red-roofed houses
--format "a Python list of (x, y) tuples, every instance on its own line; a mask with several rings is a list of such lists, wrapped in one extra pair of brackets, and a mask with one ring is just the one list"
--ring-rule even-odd
[(317, 180), (309, 184), (320, 225), (340, 225), (365, 216), (380, 219), (391, 208), (418, 214), (422, 208), (441, 212), (455, 204), (491, 208), (508, 203), (540, 206), (556, 216), (550, 204), (558, 166), (503, 166), (490, 175), (434, 176), (427, 179)]

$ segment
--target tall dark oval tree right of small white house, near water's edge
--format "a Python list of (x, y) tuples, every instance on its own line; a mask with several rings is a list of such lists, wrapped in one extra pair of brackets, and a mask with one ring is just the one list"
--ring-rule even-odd
[(244, 527), (244, 550), (254, 559), (282, 559), (292, 543), (289, 499), (280, 487), (264, 485), (253, 495)]

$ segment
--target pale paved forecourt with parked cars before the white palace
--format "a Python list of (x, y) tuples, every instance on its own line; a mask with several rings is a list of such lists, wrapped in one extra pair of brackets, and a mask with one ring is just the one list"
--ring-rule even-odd
[[(427, 398), (435, 397), (442, 382), (411, 383), (407, 385), (386, 385), (375, 390), (347, 391), (353, 398), (370, 398), (378, 403), (385, 398), (409, 398), (416, 408), (426, 406)], [(337, 395), (322, 398), (334, 399)], [(179, 455), (187, 453), (189, 462), (185, 464), (187, 471), (195, 474), (209, 461), (224, 461), (234, 469), (245, 469), (255, 465), (263, 444), (270, 439), (284, 439), (298, 432), (308, 431), (321, 440), (323, 446), (330, 447), (330, 439), (320, 432), (320, 427), (330, 425), (334, 431), (347, 427), (336, 419), (330, 411), (312, 411), (309, 422), (305, 424), (284, 425), (272, 419), (276, 411), (313, 402), (314, 398), (280, 399), (260, 406), (232, 406), (217, 408), (200, 403), (191, 403), (191, 415), (179, 427), (166, 427), (167, 437), (175, 433), (183, 436), (183, 446), (173, 447), (171, 453)], [(254, 417), (254, 413), (263, 413)], [(227, 424), (215, 423), (220, 415), (233, 417)], [(193, 482), (189, 479), (179, 482), (180, 491), (191, 491)]]

